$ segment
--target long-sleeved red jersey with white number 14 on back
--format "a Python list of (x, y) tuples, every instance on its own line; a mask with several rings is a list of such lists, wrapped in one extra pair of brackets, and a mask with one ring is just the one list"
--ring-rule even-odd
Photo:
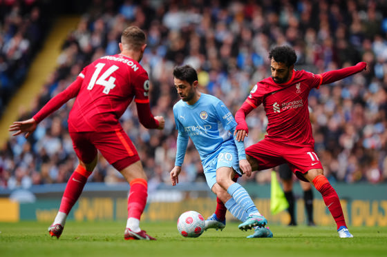
[[(149, 106), (149, 78), (140, 63), (122, 54), (97, 59), (77, 79), (39, 110), (33, 117), (38, 123), (69, 99), (77, 97), (68, 116), (69, 132), (104, 132), (120, 129), (119, 119), (131, 103)], [(158, 126), (149, 107), (138, 112), (147, 127)], [(148, 121), (149, 120), (149, 121)]]

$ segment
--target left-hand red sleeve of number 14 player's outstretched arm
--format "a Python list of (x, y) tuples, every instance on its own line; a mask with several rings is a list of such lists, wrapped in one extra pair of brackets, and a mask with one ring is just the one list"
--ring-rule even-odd
[(37, 123), (43, 121), (48, 115), (52, 114), (56, 110), (59, 109), (64, 103), (66, 103), (68, 100), (74, 98), (77, 96), (79, 89), (81, 88), (82, 81), (84, 79), (82, 76), (78, 76), (77, 79), (71, 83), (66, 90), (63, 90), (56, 96), (54, 96), (44, 107), (37, 112), (32, 118), (35, 119)]

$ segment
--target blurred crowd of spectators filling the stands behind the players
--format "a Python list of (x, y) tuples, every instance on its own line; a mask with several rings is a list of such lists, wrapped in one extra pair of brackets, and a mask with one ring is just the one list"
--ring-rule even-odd
[[(1, 110), (19, 88), (48, 32), (41, 12), (44, 2), (4, 1), (6, 8), (0, 8)], [(202, 92), (214, 94), (235, 114), (255, 83), (270, 76), (268, 52), (276, 45), (292, 46), (298, 55), (296, 69), (315, 74), (359, 61), (368, 63), (366, 72), (312, 90), (309, 105), (315, 148), (330, 181), (387, 182), (387, 1), (93, 0), (77, 28), (68, 33), (59, 58), (48, 60), (57, 69), (47, 78), (32, 109), (19, 119), (29, 119), (75, 80), (85, 65), (116, 54), (120, 33), (128, 25), (147, 32), (141, 64), (151, 79), (152, 112), (166, 119), (163, 131), (147, 130), (138, 123), (134, 104), (121, 119), (151, 185), (170, 184), (175, 161), (172, 106), (179, 98), (173, 88), (173, 68), (192, 65), (198, 70)], [(10, 138), (1, 150), (0, 188), (67, 182), (77, 166), (67, 132), (72, 104), (69, 101), (41, 122), (28, 140)], [(249, 114), (247, 123), (246, 146), (265, 135), (263, 107)], [(190, 143), (179, 180), (204, 181), (202, 172)], [(123, 178), (100, 156), (89, 181), (119, 183)], [(241, 181), (267, 183), (270, 172), (255, 172)]]

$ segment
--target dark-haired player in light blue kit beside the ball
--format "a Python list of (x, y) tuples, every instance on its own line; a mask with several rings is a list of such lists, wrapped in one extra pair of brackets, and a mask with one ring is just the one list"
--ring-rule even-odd
[[(241, 230), (255, 227), (250, 238), (272, 237), (265, 228), (267, 220), (258, 212), (252, 198), (238, 183), (235, 174), (251, 176), (252, 167), (246, 160), (243, 141), (234, 140), (236, 121), (225, 104), (215, 96), (198, 91), (198, 75), (189, 65), (173, 70), (173, 82), (181, 98), (173, 106), (178, 141), (175, 167), (171, 170), (171, 183), (178, 183), (189, 138), (200, 154), (207, 184), (236, 218), (243, 221)], [(225, 218), (213, 214), (206, 227), (225, 227)]]

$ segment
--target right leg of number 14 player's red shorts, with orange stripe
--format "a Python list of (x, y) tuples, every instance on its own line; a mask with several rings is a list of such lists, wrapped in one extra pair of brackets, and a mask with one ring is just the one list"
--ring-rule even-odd
[(106, 161), (118, 171), (140, 161), (135, 146), (122, 128), (113, 132), (95, 132), (93, 143)]

